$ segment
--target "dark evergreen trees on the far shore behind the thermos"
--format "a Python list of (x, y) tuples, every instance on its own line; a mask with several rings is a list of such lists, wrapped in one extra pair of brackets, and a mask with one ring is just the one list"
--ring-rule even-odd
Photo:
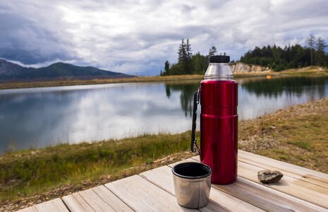
[[(240, 61), (247, 64), (268, 66), (274, 71), (305, 66), (328, 67), (328, 54), (324, 52), (325, 47), (327, 45), (322, 37), (316, 38), (314, 35), (310, 35), (305, 47), (301, 45), (288, 45), (284, 49), (276, 45), (255, 47), (255, 49), (246, 52)], [(166, 60), (164, 71), (161, 71), (160, 75), (204, 74), (208, 66), (208, 57), (216, 53), (217, 48), (213, 46), (207, 55), (202, 55), (200, 52), (192, 54), (189, 40), (187, 39), (186, 42), (182, 40), (178, 48), (178, 62), (170, 64)]]

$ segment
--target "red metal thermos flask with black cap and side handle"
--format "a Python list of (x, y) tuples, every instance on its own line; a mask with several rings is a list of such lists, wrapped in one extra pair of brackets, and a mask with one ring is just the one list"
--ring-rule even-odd
[[(229, 184), (237, 178), (238, 83), (233, 81), (230, 57), (209, 57), (205, 80), (194, 94), (191, 151), (212, 168), (212, 183)], [(195, 139), (196, 110), (200, 113), (200, 148)]]

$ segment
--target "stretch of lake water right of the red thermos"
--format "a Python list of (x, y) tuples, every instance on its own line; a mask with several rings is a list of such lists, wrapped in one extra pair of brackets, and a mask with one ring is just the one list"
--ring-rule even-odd
[(289, 105), (327, 98), (328, 77), (248, 78), (238, 88), (240, 119), (274, 112)]

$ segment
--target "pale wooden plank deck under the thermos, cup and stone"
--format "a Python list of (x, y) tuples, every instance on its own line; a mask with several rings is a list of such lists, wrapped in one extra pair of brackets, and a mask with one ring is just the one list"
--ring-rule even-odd
[[(197, 211), (176, 203), (173, 165), (21, 211)], [(278, 183), (261, 184), (257, 171), (263, 169), (280, 170), (284, 177)], [(209, 198), (209, 204), (198, 211), (328, 211), (328, 175), (239, 151), (237, 182), (212, 184)]]

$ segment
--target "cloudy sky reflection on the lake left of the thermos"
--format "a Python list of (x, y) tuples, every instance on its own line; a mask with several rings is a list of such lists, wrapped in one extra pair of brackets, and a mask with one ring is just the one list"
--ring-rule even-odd
[[(163, 83), (0, 91), (0, 149), (119, 139), (188, 129), (180, 95)], [(178, 120), (178, 122), (176, 122)]]

